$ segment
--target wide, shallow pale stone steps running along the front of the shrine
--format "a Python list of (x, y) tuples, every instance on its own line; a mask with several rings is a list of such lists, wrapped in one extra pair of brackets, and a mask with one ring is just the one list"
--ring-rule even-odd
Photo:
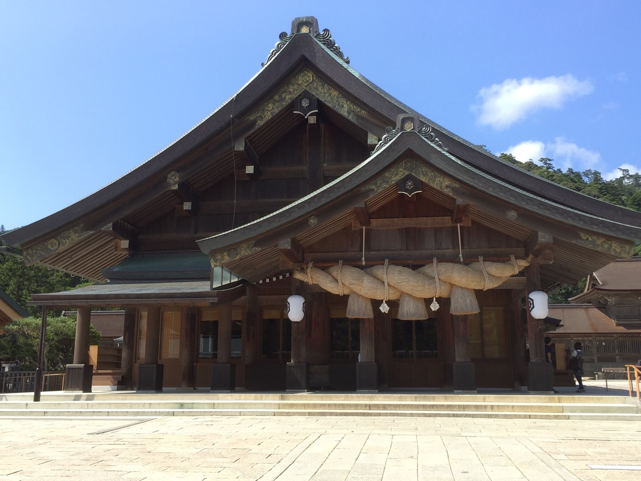
[(431, 416), (641, 421), (628, 396), (208, 391), (0, 394), (0, 416)]

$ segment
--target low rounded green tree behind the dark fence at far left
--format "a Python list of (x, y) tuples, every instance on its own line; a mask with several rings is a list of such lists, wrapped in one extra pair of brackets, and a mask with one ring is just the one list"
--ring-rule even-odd
[[(38, 364), (40, 317), (23, 317), (4, 326), (0, 335), (0, 359), (19, 360), (22, 369), (33, 370)], [(76, 316), (47, 317), (44, 369), (62, 371), (74, 358)], [(90, 326), (89, 344), (98, 344), (100, 333)]]

